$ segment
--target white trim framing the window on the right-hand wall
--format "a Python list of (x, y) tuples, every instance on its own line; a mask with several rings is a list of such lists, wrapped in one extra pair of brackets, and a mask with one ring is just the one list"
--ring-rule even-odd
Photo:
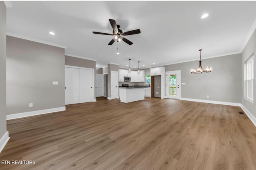
[[(252, 98), (248, 97), (248, 81), (249, 81), (249, 79), (248, 79), (248, 72), (249, 72), (249, 70), (248, 70), (248, 63), (250, 63), (250, 62), (252, 63), (251, 70), (250, 70), (251, 71), (251, 75), (252, 75), (251, 76), (252, 78), (250, 79), (250, 80), (252, 80)], [(253, 98), (253, 91), (254, 91), (253, 90), (253, 82), (254, 82), (254, 75), (253, 75), (254, 74), (254, 56), (253, 55), (250, 56), (250, 58), (246, 61), (245, 65), (246, 65), (246, 84), (245, 84), (246, 85), (246, 95), (245, 95), (244, 98), (246, 100), (248, 100), (249, 102), (253, 103), (253, 101), (254, 101), (253, 100), (254, 99)]]

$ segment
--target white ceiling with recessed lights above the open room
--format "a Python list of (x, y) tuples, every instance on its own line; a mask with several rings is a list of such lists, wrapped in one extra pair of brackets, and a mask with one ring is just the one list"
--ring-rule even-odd
[[(66, 54), (92, 58), (96, 67), (117, 63), (154, 66), (240, 53), (255, 28), (256, 1), (12, 1), (7, 32), (67, 46)], [(204, 13), (210, 13), (200, 19)], [(108, 45), (108, 19), (134, 44)], [(48, 32), (55, 32), (55, 36)], [(155, 63), (154, 65), (152, 63)], [(145, 66), (143, 66), (145, 65)]]

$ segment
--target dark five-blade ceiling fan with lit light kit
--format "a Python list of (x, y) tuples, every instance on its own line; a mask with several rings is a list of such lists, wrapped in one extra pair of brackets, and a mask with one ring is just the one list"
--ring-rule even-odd
[(128, 36), (128, 35), (133, 35), (133, 34), (140, 34), (140, 29), (137, 30), (132, 30), (132, 31), (127, 31), (127, 32), (123, 32), (122, 30), (120, 30), (120, 25), (116, 24), (115, 20), (109, 19), (109, 22), (113, 28), (113, 34), (108, 34), (108, 33), (102, 33), (102, 32), (92, 32), (94, 34), (103, 34), (103, 35), (110, 35), (113, 36), (113, 39), (108, 43), (108, 45), (112, 45), (115, 41), (116, 42), (120, 42), (120, 41), (124, 41), (129, 45), (132, 45), (133, 43), (129, 40), (127, 40), (126, 38), (124, 38), (123, 36)]

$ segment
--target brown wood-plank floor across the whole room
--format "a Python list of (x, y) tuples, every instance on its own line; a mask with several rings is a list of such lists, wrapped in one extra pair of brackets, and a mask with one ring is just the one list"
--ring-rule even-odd
[(256, 127), (240, 107), (145, 98), (66, 106), (7, 121), (0, 170), (256, 170)]

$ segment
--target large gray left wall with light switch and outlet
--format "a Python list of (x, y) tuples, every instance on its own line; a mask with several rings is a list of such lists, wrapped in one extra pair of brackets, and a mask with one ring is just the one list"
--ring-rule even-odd
[(64, 48), (7, 36), (6, 56), (7, 114), (65, 106)]

